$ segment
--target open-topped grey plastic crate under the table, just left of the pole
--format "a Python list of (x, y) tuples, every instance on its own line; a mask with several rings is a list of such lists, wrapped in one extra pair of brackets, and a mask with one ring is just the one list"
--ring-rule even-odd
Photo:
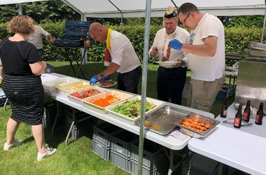
[(127, 132), (126, 130), (112, 134), (110, 137), (111, 162), (120, 169), (123, 169), (125, 172), (131, 172), (131, 144), (138, 138), (138, 135), (133, 134), (132, 132)]

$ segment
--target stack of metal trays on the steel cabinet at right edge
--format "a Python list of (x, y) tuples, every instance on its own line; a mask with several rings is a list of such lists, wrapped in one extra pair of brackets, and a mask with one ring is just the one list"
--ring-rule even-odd
[(266, 62), (266, 44), (250, 41), (246, 49), (247, 59), (255, 62)]

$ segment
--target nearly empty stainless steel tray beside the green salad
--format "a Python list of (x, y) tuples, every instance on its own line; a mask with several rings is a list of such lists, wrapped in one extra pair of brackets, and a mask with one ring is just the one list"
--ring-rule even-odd
[[(173, 106), (162, 106), (146, 115), (145, 127), (147, 130), (165, 135), (174, 130), (176, 123), (179, 123), (179, 120), (188, 114), (191, 112)], [(139, 120), (136, 121), (136, 124), (139, 125)]]

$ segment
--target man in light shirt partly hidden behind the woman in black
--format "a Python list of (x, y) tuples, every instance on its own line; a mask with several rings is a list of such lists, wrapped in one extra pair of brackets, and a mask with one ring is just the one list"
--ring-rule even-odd
[(51, 34), (45, 31), (43, 27), (37, 25), (34, 25), (34, 33), (27, 39), (29, 43), (33, 43), (33, 45), (36, 47), (40, 57), (43, 55), (43, 36), (48, 37), (50, 43), (55, 42), (55, 39)]

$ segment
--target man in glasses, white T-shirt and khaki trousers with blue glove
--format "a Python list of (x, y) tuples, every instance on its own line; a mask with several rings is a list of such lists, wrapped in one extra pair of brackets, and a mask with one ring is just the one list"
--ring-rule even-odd
[(179, 20), (191, 29), (191, 43), (170, 41), (172, 48), (188, 52), (181, 65), (191, 69), (188, 106), (211, 111), (225, 78), (225, 32), (223, 23), (214, 15), (201, 13), (193, 3), (183, 3)]

